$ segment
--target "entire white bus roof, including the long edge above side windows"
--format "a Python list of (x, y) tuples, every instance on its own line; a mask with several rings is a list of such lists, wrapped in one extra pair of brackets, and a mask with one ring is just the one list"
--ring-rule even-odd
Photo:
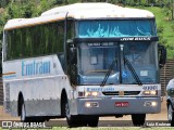
[(154, 17), (154, 15), (151, 12), (146, 10), (122, 8), (111, 3), (74, 3), (51, 9), (49, 11), (44, 12), (38, 17), (10, 20), (5, 24), (4, 29), (8, 30), (13, 28), (22, 28), (44, 23), (55, 22), (59, 20), (64, 20), (66, 16), (76, 20), (104, 17)]

